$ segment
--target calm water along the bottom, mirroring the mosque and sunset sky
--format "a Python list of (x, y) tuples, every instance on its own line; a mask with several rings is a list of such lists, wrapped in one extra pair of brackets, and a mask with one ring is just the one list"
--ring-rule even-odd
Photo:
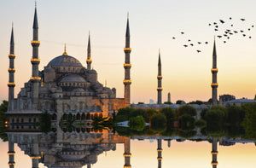
[[(212, 143), (208, 141), (184, 140), (177, 142), (172, 140), (169, 148), (168, 142), (164, 140), (166, 137), (125, 137), (108, 132), (108, 130), (103, 130), (102, 133), (64, 133), (59, 130), (56, 133), (48, 134), (39, 132), (13, 132), (8, 134), (9, 141), (15, 142), (15, 168), (32, 167), (32, 159), (29, 157), (29, 155), (33, 155), (32, 153), (41, 156), (42, 159), (38, 159), (39, 162), (43, 162), (38, 164), (40, 168), (47, 167), (46, 165), (52, 167), (87, 167), (86, 164), (88, 163), (91, 163), (93, 168), (120, 168), (125, 165), (124, 153), (128, 154), (128, 156), (126, 155), (126, 164), (129, 164), (129, 152), (131, 153), (131, 167), (133, 168), (154, 168), (158, 167), (158, 164), (161, 164), (162, 168), (212, 167)], [(164, 138), (159, 141), (162, 143), (160, 163), (157, 159), (157, 148), (160, 143), (157, 142), (155, 137)], [(140, 140), (137, 140), (137, 138)], [(143, 138), (150, 139), (142, 140)], [(212, 141), (212, 138), (207, 138), (207, 140)], [(223, 145), (227, 145), (228, 142), (231, 144), (230, 141), (219, 138), (218, 144), (216, 143), (218, 146), (218, 168), (256, 167), (256, 147), (253, 141), (247, 143), (236, 141), (235, 145)], [(9, 167), (8, 147), (9, 142), (0, 142), (1, 168)], [(129, 147), (131, 150), (129, 150)], [(60, 166), (61, 162), (66, 164), (79, 163), (80, 165)]]

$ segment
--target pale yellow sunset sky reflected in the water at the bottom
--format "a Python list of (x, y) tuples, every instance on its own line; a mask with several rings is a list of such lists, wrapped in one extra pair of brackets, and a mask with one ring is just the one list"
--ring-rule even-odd
[[(8, 167), (8, 142), (0, 142), (1, 167)], [(115, 151), (108, 151), (98, 155), (94, 168), (119, 168), (124, 165), (124, 145), (117, 144)], [(139, 148), (138, 148), (139, 147)], [(131, 141), (131, 167), (157, 167), (157, 143), (156, 141)], [(162, 142), (162, 167), (212, 167), (212, 145), (209, 142), (171, 142), (171, 148), (167, 148), (167, 142)], [(189, 150), (188, 150), (189, 149)], [(230, 147), (218, 145), (218, 168), (254, 168), (256, 150), (253, 143), (238, 144)], [(29, 156), (24, 154), (15, 145), (15, 168), (30, 167), (32, 165)], [(40, 168), (45, 168), (39, 164)], [(86, 168), (86, 166), (84, 166)]]

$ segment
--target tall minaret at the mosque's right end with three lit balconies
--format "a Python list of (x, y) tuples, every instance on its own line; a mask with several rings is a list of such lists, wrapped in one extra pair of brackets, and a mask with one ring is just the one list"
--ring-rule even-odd
[(129, 105), (131, 103), (131, 62), (130, 62), (130, 27), (129, 27), (129, 16), (127, 17), (126, 33), (125, 33), (125, 104)]

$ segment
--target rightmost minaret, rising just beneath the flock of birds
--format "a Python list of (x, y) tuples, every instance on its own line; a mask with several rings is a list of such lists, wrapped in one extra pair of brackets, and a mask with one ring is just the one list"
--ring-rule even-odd
[(216, 44), (215, 44), (215, 38), (214, 38), (214, 44), (213, 44), (213, 53), (212, 53), (212, 106), (216, 106), (218, 104), (218, 83), (217, 83), (217, 52), (216, 52)]

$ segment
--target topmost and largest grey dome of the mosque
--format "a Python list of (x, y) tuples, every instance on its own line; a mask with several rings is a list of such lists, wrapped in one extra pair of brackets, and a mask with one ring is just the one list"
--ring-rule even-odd
[(47, 67), (83, 67), (80, 61), (70, 55), (60, 55), (49, 61)]

